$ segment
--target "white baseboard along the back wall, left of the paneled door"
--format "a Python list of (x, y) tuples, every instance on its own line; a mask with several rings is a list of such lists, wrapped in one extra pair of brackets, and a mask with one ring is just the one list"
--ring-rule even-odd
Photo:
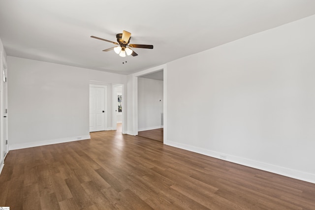
[(28, 143), (22, 143), (22, 144), (13, 144), (13, 145), (9, 145), (9, 150), (19, 150), (19, 149), (25, 149), (25, 148), (31, 148), (31, 147), (39, 147), (39, 146), (45, 146), (45, 145), (60, 144), (60, 143), (65, 143), (65, 142), (74, 142), (74, 141), (80, 141), (80, 140), (86, 140), (86, 139), (91, 139), (91, 136), (90, 135), (75, 136), (75, 137), (68, 137), (68, 138), (62, 138), (62, 139), (53, 139), (53, 140), (47, 140), (47, 141), (28, 142)]

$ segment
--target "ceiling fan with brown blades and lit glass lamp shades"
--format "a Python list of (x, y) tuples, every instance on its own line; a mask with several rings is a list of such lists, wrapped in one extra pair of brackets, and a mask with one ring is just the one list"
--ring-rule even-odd
[(153, 45), (146, 45), (146, 44), (129, 44), (129, 41), (130, 41), (130, 36), (131, 36), (131, 33), (126, 31), (126, 30), (123, 30), (123, 33), (118, 33), (116, 34), (116, 38), (117, 38), (117, 42), (113, 42), (113, 41), (110, 41), (110, 40), (107, 40), (107, 39), (102, 39), (102, 38), (99, 38), (99, 37), (96, 37), (96, 36), (91, 36), (92, 38), (95, 38), (95, 39), (99, 39), (99, 40), (103, 40), (103, 41), (107, 41), (107, 42), (111, 42), (113, 44), (116, 44), (118, 46), (116, 47), (111, 47), (111, 48), (108, 48), (106, 50), (103, 50), (104, 52), (108, 52), (108, 51), (111, 51), (111, 50), (114, 50), (115, 53), (119, 54), (119, 56), (121, 57), (126, 57), (126, 54), (127, 56), (131, 55), (131, 56), (137, 56), (138, 54), (136, 54), (133, 50), (131, 50), (130, 47), (133, 47), (133, 48), (146, 48), (146, 49), (153, 49)]

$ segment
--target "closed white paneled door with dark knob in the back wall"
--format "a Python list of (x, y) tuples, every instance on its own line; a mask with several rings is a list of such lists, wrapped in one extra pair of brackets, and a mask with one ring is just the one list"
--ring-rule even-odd
[(90, 132), (107, 128), (107, 86), (90, 85)]

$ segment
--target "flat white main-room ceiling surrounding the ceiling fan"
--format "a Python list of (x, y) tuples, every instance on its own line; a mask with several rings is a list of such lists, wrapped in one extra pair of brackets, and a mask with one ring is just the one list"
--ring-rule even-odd
[[(9, 56), (130, 74), (313, 14), (315, 0), (0, 0), (0, 39)], [(90, 37), (123, 30), (154, 49), (123, 59)]]

